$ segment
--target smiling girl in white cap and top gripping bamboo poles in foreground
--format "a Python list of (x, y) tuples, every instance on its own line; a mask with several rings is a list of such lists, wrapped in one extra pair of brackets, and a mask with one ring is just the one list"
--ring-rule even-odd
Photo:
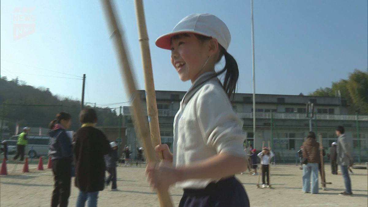
[[(226, 25), (211, 14), (189, 15), (156, 40), (158, 47), (171, 50), (180, 80), (192, 82), (174, 118), (173, 154), (166, 144), (156, 146), (166, 164), (146, 168), (153, 188), (176, 184), (184, 189), (180, 207), (249, 206), (234, 177), (246, 168), (247, 156), (243, 122), (229, 101), (238, 79), (237, 63), (226, 51), (229, 43)], [(226, 64), (215, 72), (223, 56)], [(225, 74), (223, 83), (220, 74)]]

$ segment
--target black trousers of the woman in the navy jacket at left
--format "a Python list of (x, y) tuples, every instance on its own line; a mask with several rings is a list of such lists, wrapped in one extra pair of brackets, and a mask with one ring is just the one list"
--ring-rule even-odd
[(55, 186), (52, 192), (51, 207), (67, 207), (70, 196), (71, 160), (53, 159), (52, 172), (54, 173)]

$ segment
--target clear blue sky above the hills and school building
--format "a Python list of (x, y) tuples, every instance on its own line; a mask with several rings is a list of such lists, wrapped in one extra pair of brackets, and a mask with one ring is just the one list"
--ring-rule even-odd
[[(133, 1), (114, 4), (138, 88), (144, 89)], [(15, 13), (17, 7), (34, 10)], [(250, 0), (145, 0), (144, 8), (156, 90), (186, 91), (190, 81), (179, 80), (170, 51), (157, 48), (155, 39), (188, 14), (212, 13), (231, 33), (228, 51), (239, 66), (238, 92), (252, 92)], [(347, 78), (354, 69), (367, 71), (367, 10), (367, 0), (255, 0), (256, 93), (308, 94)], [(53, 94), (80, 99), (81, 80), (45, 76), (79, 79), (75, 76), (85, 73), (86, 102), (127, 101), (99, 1), (2, 0), (0, 11), (1, 76), (18, 76), (35, 87), (50, 88)], [(19, 14), (33, 19), (20, 21), (14, 16)], [(14, 41), (16, 24), (34, 24), (35, 32)]]

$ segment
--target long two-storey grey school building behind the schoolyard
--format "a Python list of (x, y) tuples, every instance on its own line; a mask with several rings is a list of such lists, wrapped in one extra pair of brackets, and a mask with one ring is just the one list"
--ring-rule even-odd
[[(146, 110), (145, 91), (139, 92)], [(184, 94), (185, 91), (156, 91), (161, 142), (168, 144), (170, 148), (173, 143), (174, 116)], [(235, 94), (231, 101), (237, 116), (244, 121), (243, 130), (248, 143), (260, 150), (262, 141), (265, 141), (267, 147), (267, 141), (270, 140), (276, 162), (296, 161), (296, 152), (309, 131), (309, 118), (305, 113), (308, 102), (314, 104), (312, 131), (322, 136), (326, 153), (331, 143), (337, 140), (336, 126), (342, 125), (346, 136), (350, 138), (354, 161), (368, 160), (368, 115), (348, 114), (348, 103), (343, 98), (256, 94), (255, 102), (256, 133), (253, 134), (252, 94)], [(126, 128), (127, 144), (131, 146), (135, 157), (135, 146), (139, 143), (129, 107), (126, 106), (123, 107), (123, 127)]]

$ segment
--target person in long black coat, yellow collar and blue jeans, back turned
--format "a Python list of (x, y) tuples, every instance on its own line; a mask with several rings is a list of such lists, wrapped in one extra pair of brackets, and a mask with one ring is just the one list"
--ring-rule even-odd
[(75, 186), (79, 188), (76, 207), (97, 206), (98, 192), (105, 186), (104, 155), (110, 152), (110, 144), (102, 131), (95, 128), (97, 113), (85, 108), (79, 114), (81, 128), (75, 133), (74, 161)]

